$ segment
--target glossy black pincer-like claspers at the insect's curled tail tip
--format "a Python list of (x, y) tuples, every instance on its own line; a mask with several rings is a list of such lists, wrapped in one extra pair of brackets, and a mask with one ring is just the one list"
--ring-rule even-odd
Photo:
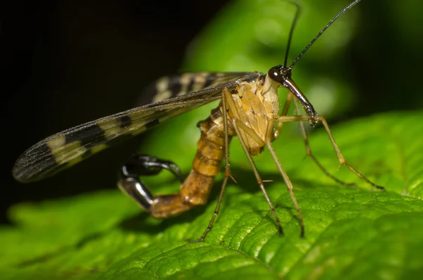
[(151, 212), (154, 197), (148, 187), (138, 179), (140, 176), (159, 174), (161, 170), (168, 170), (180, 182), (183, 182), (183, 175), (178, 165), (167, 160), (160, 160), (150, 155), (134, 155), (121, 169), (121, 178), (118, 180), (118, 187), (132, 198), (145, 211)]

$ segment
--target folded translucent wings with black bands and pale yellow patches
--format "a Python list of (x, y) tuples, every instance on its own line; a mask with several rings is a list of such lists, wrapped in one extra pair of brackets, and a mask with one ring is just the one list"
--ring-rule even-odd
[(161, 78), (150, 87), (154, 103), (102, 117), (39, 141), (16, 160), (13, 177), (20, 182), (48, 177), (169, 117), (219, 99), (225, 87), (235, 89), (240, 82), (263, 76), (258, 72), (199, 72)]

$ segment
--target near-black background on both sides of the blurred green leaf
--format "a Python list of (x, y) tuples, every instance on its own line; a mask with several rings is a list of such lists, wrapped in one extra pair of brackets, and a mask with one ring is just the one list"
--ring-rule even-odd
[[(46, 136), (133, 107), (149, 82), (178, 72), (185, 47), (225, 3), (63, 0), (0, 4), (0, 91), (5, 98), (1, 102), (0, 222), (7, 221), (6, 209), (13, 203), (115, 188), (116, 170), (140, 139), (43, 182), (18, 184), (11, 169), (25, 148)], [(355, 81), (360, 106), (341, 120), (422, 108), (418, 81), (423, 33), (422, 20), (417, 21), (422, 4), (380, 3), (364, 0), (359, 5), (357, 36), (346, 52), (351, 74), (345, 79)], [(411, 8), (392, 18), (398, 5)]]

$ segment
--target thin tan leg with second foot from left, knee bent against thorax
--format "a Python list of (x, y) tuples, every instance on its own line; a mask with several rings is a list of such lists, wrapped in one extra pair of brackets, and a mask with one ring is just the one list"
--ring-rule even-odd
[[(232, 125), (233, 125), (233, 128), (235, 129), (236, 134), (241, 135), (241, 129), (242, 129), (243, 132), (248, 134), (248, 136), (251, 136), (253, 139), (256, 139), (256, 138), (259, 139), (259, 136), (257, 136), (257, 134), (254, 132), (254, 130), (251, 129), (250, 127), (247, 127), (246, 125), (244, 125), (243, 122), (241, 122), (240, 120), (233, 118)], [(282, 225), (281, 225), (281, 220), (279, 219), (278, 214), (276, 213), (276, 210), (274, 208), (274, 205), (271, 203), (270, 198), (267, 195), (266, 189), (264, 188), (263, 179), (262, 179), (262, 177), (260, 176), (260, 174), (257, 170), (257, 167), (254, 163), (254, 160), (252, 160), (252, 156), (250, 155), (250, 153), (248, 151), (247, 145), (245, 144), (243, 137), (238, 137), (238, 138), (240, 139), (241, 146), (243, 146), (244, 153), (245, 153), (245, 155), (247, 155), (247, 159), (250, 162), (252, 170), (255, 174), (255, 177), (257, 179), (257, 184), (259, 184), (259, 187), (262, 190), (264, 198), (266, 198), (267, 204), (269, 204), (270, 210), (271, 210), (272, 214), (274, 215), (274, 219), (276, 221), (276, 226), (278, 227), (279, 235), (283, 236), (283, 229), (282, 229)], [(262, 144), (264, 146), (264, 142)], [(295, 196), (294, 196), (294, 198), (295, 198)], [(298, 210), (298, 214), (299, 214), (299, 217), (300, 217), (301, 236), (304, 236), (304, 225), (302, 224), (302, 216), (301, 216), (300, 208), (298, 208), (297, 210)]]

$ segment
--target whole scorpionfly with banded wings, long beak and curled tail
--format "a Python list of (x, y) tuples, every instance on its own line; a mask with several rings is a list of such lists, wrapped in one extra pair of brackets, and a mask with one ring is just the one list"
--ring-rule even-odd
[[(198, 123), (201, 137), (197, 143), (197, 154), (192, 163), (192, 170), (185, 180), (178, 166), (174, 163), (149, 155), (135, 155), (122, 167), (121, 179), (118, 181), (119, 188), (133, 198), (144, 210), (150, 212), (153, 217), (166, 218), (207, 202), (209, 192), (214, 184), (214, 177), (219, 173), (224, 158), (225, 176), (221, 185), (219, 200), (207, 229), (198, 239), (198, 241), (202, 241), (212, 229), (214, 219), (219, 213), (223, 193), (228, 178), (231, 177), (229, 144), (233, 136), (238, 136), (245, 155), (247, 155), (247, 159), (252, 166), (257, 184), (274, 215), (279, 234), (283, 235), (281, 222), (252, 159), (252, 156), (261, 153), (265, 146), (271, 153), (290, 193), (300, 223), (300, 236), (305, 236), (305, 227), (300, 206), (293, 192), (293, 184), (271, 146), (271, 142), (278, 138), (284, 123), (300, 122), (307, 155), (327, 176), (338, 183), (348, 185), (329, 174), (314, 158), (309, 148), (303, 122), (309, 122), (309, 125), (312, 126), (321, 122), (329, 135), (340, 163), (348, 167), (367, 184), (376, 189), (384, 190), (383, 187), (370, 182), (369, 179), (345, 161), (326, 120), (314, 110), (312, 104), (302, 94), (291, 77), (295, 63), (309, 47), (339, 16), (358, 2), (360, 0), (353, 1), (329, 21), (289, 67), (287, 66), (288, 49), (298, 18), (298, 11), (290, 30), (283, 65), (270, 68), (266, 74), (259, 72), (193, 72), (163, 77), (154, 86), (154, 103), (102, 117), (39, 141), (18, 158), (13, 168), (13, 176), (20, 182), (30, 182), (48, 177), (116, 144), (118, 141), (124, 140), (128, 136), (140, 134), (170, 117), (220, 99), (219, 106), (212, 110), (209, 117)], [(288, 89), (286, 103), (281, 112), (279, 112), (278, 100), (279, 87)], [(288, 108), (292, 103), (295, 105), (297, 115), (288, 115)], [(305, 110), (305, 115), (301, 114), (299, 103)], [(180, 192), (153, 196), (148, 187), (140, 181), (140, 176), (157, 174), (161, 170), (168, 170), (180, 179), (182, 182)]]

